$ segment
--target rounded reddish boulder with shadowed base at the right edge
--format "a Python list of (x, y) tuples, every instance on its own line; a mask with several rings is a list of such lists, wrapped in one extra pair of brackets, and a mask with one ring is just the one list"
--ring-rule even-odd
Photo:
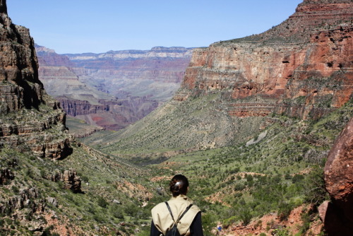
[(328, 154), (325, 186), (331, 203), (324, 203), (321, 218), (329, 235), (353, 234), (353, 119)]

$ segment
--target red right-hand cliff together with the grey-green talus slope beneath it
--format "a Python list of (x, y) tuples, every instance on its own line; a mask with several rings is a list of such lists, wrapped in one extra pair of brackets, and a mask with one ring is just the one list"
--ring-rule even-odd
[(139, 155), (212, 148), (255, 135), (274, 122), (270, 114), (329, 114), (353, 91), (352, 9), (347, 0), (304, 1), (265, 33), (194, 49), (171, 102), (92, 143), (103, 141), (112, 153), (137, 148)]

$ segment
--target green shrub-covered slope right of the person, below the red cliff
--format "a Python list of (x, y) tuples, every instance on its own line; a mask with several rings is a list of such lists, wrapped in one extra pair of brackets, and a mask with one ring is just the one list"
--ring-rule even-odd
[(166, 187), (176, 173), (189, 177), (189, 195), (201, 206), (208, 233), (217, 222), (247, 224), (272, 212), (285, 220), (292, 208), (313, 204), (313, 214), (302, 213), (299, 233), (305, 232), (328, 197), (322, 179), (325, 157), (352, 116), (351, 101), (318, 121), (273, 117), (277, 122), (251, 145), (176, 155), (154, 165), (152, 175)]

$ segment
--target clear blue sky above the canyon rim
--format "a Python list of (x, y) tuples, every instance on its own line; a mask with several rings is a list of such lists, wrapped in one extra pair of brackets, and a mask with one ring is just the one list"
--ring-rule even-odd
[(8, 0), (13, 23), (58, 53), (206, 47), (262, 33), (302, 0)]

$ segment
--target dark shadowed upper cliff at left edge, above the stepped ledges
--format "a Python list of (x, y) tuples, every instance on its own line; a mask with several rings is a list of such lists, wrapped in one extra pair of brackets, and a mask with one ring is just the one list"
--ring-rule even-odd
[(8, 18), (6, 2), (0, 4), (1, 113), (38, 107), (43, 85), (38, 79), (34, 42), (28, 29), (13, 25)]

